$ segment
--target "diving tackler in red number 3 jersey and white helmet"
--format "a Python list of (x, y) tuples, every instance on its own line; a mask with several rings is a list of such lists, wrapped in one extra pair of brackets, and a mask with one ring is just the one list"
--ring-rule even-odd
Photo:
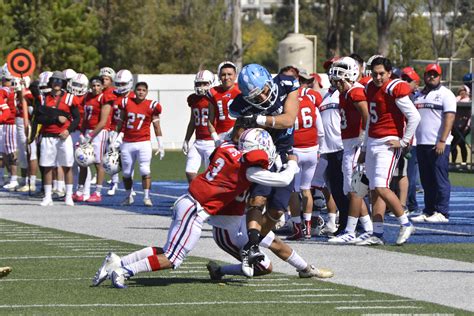
[(178, 268), (198, 242), (203, 223), (246, 191), (251, 181), (271, 181), (273, 185), (291, 182), (297, 170), (296, 161), (290, 161), (290, 167), (276, 174), (267, 170), (275, 157), (271, 136), (262, 129), (244, 132), (238, 146), (233, 142), (220, 145), (207, 170), (191, 182), (189, 193), (175, 202), (165, 246), (147, 247), (121, 258), (109, 254), (97, 271), (93, 285), (100, 284), (111, 273), (113, 286), (124, 288), (125, 280), (137, 273)]

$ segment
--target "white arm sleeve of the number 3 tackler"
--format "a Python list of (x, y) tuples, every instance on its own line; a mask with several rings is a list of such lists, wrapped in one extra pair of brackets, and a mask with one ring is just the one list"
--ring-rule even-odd
[(250, 167), (247, 169), (247, 179), (262, 185), (272, 187), (286, 187), (288, 186), (295, 173), (298, 172), (298, 163), (294, 160), (288, 161), (288, 167), (282, 172), (276, 173), (261, 167)]

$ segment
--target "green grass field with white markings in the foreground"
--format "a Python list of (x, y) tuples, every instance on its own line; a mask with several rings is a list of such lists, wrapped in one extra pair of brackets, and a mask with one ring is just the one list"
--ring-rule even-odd
[(363, 313), (462, 315), (465, 311), (315, 279), (272, 274), (209, 280), (207, 260), (190, 257), (176, 271), (143, 274), (129, 288), (91, 278), (108, 250), (139, 246), (0, 220), (1, 315), (360, 315)]

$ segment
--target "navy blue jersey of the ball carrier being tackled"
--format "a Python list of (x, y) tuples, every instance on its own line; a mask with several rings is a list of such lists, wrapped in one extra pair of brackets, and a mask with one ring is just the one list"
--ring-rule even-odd
[[(271, 107), (266, 110), (258, 109), (245, 101), (242, 94), (239, 94), (234, 99), (234, 102), (232, 102), (232, 104), (229, 106), (230, 116), (238, 118), (241, 116), (250, 116), (254, 114), (266, 116), (276, 116), (282, 114), (283, 106), (285, 105), (288, 94), (290, 92), (297, 91), (300, 85), (297, 79), (285, 75), (277, 75), (273, 78), (273, 82), (278, 87), (278, 97)], [(288, 129), (266, 129), (270, 135), (272, 135), (278, 152), (288, 151), (291, 149), (293, 146), (293, 127)]]

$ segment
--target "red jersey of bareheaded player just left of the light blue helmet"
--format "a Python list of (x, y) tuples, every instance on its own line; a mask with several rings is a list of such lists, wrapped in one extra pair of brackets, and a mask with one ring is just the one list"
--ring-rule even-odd
[(229, 90), (224, 90), (221, 86), (209, 90), (211, 106), (214, 107), (215, 121), (212, 122), (217, 134), (225, 133), (234, 127), (235, 118), (229, 115), (229, 106), (240, 94), (237, 84)]

